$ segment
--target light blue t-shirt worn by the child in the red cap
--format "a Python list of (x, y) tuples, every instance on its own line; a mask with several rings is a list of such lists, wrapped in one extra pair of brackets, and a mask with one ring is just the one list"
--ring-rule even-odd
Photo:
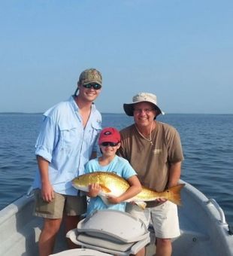
[[(90, 160), (86, 164), (85, 169), (85, 173), (89, 172), (113, 172), (126, 180), (133, 175), (137, 175), (128, 160), (118, 156), (115, 156), (107, 166), (101, 166), (98, 163), (98, 158)], [(91, 197), (87, 206), (87, 215), (91, 214), (94, 210), (101, 209), (115, 209), (125, 212), (126, 203), (111, 204), (107, 206), (100, 197)]]

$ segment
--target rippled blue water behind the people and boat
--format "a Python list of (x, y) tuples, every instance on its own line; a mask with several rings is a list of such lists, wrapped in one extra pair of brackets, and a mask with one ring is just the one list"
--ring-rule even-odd
[[(0, 114), (0, 209), (29, 189), (36, 169), (35, 139), (41, 114)], [(182, 179), (214, 198), (233, 225), (233, 115), (166, 114), (159, 120), (180, 133)], [(125, 114), (103, 114), (103, 126), (132, 123)]]

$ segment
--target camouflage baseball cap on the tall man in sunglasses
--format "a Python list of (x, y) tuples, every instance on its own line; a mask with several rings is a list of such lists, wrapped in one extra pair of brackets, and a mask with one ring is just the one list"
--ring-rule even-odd
[(96, 83), (102, 85), (102, 76), (101, 72), (98, 72), (97, 69), (86, 69), (84, 70), (79, 77), (78, 84), (85, 85), (89, 83)]

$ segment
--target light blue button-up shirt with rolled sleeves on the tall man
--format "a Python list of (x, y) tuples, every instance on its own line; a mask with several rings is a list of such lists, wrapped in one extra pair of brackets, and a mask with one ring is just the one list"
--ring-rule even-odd
[[(83, 174), (92, 151), (97, 150), (96, 141), (100, 131), (101, 114), (95, 105), (92, 104), (92, 111), (84, 129), (73, 96), (44, 113), (35, 154), (50, 162), (50, 183), (57, 193), (77, 195), (71, 180)], [(38, 170), (32, 186), (41, 188)]]

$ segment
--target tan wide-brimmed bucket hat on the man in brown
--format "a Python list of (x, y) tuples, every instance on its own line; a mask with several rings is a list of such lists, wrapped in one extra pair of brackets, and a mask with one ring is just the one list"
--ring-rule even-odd
[(136, 103), (139, 102), (150, 102), (152, 103), (156, 110), (158, 111), (158, 114), (165, 114), (157, 105), (157, 97), (155, 94), (153, 93), (138, 93), (137, 95), (133, 96), (132, 99), (132, 103), (129, 104), (124, 104), (124, 111), (126, 112), (126, 114), (128, 114), (129, 116), (133, 116), (134, 115), (134, 105)]

